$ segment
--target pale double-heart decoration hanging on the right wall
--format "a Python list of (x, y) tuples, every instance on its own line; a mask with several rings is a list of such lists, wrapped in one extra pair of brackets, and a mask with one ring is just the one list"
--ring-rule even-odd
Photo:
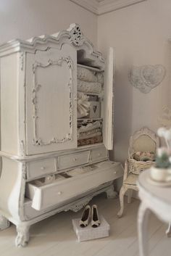
[(130, 83), (143, 94), (148, 94), (151, 89), (159, 86), (166, 74), (162, 65), (133, 66), (128, 73)]

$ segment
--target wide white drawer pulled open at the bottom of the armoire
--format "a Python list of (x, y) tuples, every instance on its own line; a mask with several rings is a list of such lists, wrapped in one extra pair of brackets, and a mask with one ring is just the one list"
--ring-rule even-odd
[(43, 210), (123, 175), (122, 165), (109, 160), (57, 174), (51, 183), (27, 183), (25, 196), (35, 210)]

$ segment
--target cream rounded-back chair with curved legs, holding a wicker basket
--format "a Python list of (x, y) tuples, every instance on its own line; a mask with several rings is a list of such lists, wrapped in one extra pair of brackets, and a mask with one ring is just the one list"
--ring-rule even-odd
[(138, 161), (133, 158), (136, 152), (156, 152), (159, 146), (159, 137), (149, 128), (143, 127), (139, 131), (135, 131), (130, 137), (130, 146), (128, 149), (128, 159), (125, 161), (125, 170), (123, 176), (123, 183), (120, 189), (120, 211), (117, 216), (122, 217), (124, 210), (124, 195), (128, 191), (128, 203), (133, 190), (138, 191), (136, 181), (138, 175), (154, 164), (154, 161)]

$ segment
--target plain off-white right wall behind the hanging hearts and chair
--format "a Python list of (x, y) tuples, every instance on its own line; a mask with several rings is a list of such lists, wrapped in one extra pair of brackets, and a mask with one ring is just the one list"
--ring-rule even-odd
[[(170, 102), (171, 1), (148, 0), (98, 17), (98, 48), (104, 54), (113, 46), (115, 55), (114, 157), (128, 156), (128, 140), (137, 129), (160, 126), (162, 106)], [(167, 68), (163, 82), (149, 94), (133, 88), (128, 80), (132, 65)]]

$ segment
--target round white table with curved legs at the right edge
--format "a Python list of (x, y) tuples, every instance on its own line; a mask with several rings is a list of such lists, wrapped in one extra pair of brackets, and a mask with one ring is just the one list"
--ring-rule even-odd
[[(138, 177), (138, 195), (141, 205), (138, 210), (138, 239), (140, 256), (148, 255), (148, 220), (150, 212), (170, 223), (171, 220), (171, 187), (156, 186), (151, 183), (149, 170)], [(167, 236), (171, 236), (171, 226), (167, 229)]]

